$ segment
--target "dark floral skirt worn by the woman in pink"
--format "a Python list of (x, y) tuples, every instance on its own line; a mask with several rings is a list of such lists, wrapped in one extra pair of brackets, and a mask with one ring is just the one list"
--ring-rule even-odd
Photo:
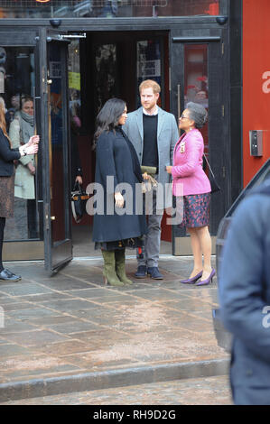
[(180, 227), (209, 226), (210, 193), (191, 194), (183, 197), (183, 218)]

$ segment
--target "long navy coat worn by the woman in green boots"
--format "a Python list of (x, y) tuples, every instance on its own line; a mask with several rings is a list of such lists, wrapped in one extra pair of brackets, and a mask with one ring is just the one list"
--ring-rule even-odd
[[(131, 148), (134, 149), (132, 145)], [(99, 210), (94, 215), (94, 242), (125, 240), (146, 233), (145, 215), (140, 208), (143, 205), (142, 186), (135, 175), (134, 158), (137, 160), (120, 129), (104, 132), (98, 137), (95, 176), (98, 187), (94, 207)], [(109, 182), (107, 177), (111, 177)], [(116, 191), (126, 198), (124, 209), (115, 208)]]

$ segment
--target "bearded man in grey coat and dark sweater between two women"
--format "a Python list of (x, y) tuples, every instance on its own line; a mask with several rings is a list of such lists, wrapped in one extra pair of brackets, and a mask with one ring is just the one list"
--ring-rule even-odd
[(172, 196), (166, 196), (166, 184), (170, 182), (166, 166), (172, 165), (174, 145), (179, 139), (174, 115), (157, 106), (160, 91), (159, 84), (154, 80), (143, 81), (140, 85), (142, 107), (128, 114), (123, 126), (140, 164), (156, 170), (154, 178), (160, 184), (159, 189), (163, 188), (162, 196), (159, 196), (161, 191), (153, 189), (153, 211), (148, 216), (148, 233), (145, 235), (143, 253), (137, 254), (138, 269), (135, 273), (136, 278), (144, 278), (148, 273), (156, 280), (163, 279), (158, 269), (163, 210), (172, 207)]

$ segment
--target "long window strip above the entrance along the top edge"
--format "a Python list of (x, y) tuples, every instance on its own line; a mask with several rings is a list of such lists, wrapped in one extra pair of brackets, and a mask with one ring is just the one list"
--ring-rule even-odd
[(219, 14), (220, 0), (2, 0), (0, 18), (163, 17)]

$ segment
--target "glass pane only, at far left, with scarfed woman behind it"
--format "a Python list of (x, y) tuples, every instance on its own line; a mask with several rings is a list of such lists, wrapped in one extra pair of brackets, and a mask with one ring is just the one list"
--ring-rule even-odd
[[(0, 47), (0, 72), (4, 75), (0, 97), (11, 146), (20, 147), (34, 134), (34, 58), (30, 47)], [(37, 159), (30, 155), (15, 161), (14, 217), (6, 220), (5, 240), (39, 238), (36, 202)]]

